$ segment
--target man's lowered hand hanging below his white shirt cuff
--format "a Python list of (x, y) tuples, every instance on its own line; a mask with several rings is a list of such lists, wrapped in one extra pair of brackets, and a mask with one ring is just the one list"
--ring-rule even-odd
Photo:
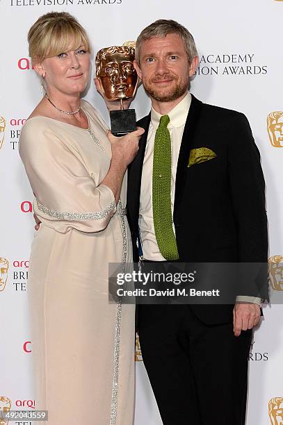
[(233, 310), (234, 335), (241, 335), (241, 331), (253, 328), (259, 323), (260, 307), (254, 303), (238, 302)]

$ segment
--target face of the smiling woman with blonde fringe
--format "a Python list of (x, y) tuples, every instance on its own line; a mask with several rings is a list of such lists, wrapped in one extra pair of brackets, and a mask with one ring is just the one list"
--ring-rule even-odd
[(86, 89), (90, 74), (90, 53), (84, 46), (59, 53), (42, 61), (47, 92), (80, 94)]

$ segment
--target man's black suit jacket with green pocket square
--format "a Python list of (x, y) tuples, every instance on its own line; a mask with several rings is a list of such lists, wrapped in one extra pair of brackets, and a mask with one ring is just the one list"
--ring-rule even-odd
[[(145, 133), (128, 174), (127, 213), (135, 261), (149, 122), (150, 114), (138, 122)], [(211, 149), (216, 158), (187, 167), (191, 149), (199, 147)], [(173, 221), (181, 262), (267, 262), (264, 176), (248, 119), (242, 113), (207, 105), (192, 96), (177, 164)], [(268, 299), (267, 285), (261, 294)], [(232, 305), (191, 307), (207, 324), (232, 320)]]

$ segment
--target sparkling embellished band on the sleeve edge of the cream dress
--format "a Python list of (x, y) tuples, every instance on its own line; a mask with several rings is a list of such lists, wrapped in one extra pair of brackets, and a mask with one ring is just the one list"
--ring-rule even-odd
[(36, 199), (36, 203), (38, 204), (38, 209), (42, 211), (42, 213), (58, 220), (99, 220), (106, 217), (106, 215), (111, 213), (116, 207), (115, 201), (112, 201), (107, 208), (97, 213), (60, 213), (59, 211), (50, 210), (50, 208), (43, 206), (42, 203), (38, 202), (38, 199)]

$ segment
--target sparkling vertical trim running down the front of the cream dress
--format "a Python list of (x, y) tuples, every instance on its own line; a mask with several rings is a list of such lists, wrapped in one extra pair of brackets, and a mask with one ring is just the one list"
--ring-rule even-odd
[[(120, 221), (120, 228), (123, 238), (123, 249), (122, 249), (122, 272), (125, 272), (125, 265), (127, 260), (127, 230), (124, 222), (124, 215), (126, 215), (126, 209), (122, 208), (121, 199), (117, 204), (118, 219)], [(115, 324), (115, 342), (114, 342), (114, 367), (113, 367), (113, 387), (111, 395), (111, 416), (110, 424), (115, 425), (117, 422), (117, 405), (118, 405), (118, 380), (119, 380), (119, 360), (120, 360), (120, 337), (121, 337), (121, 322), (122, 322), (122, 300), (118, 299), (117, 304), (117, 315)]]

